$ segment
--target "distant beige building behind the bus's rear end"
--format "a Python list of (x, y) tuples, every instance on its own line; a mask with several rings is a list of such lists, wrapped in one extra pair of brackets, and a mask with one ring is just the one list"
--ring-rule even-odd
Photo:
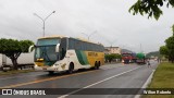
[(104, 48), (105, 54), (111, 54), (111, 53), (121, 54), (121, 51), (122, 51), (122, 49), (120, 47), (105, 47)]

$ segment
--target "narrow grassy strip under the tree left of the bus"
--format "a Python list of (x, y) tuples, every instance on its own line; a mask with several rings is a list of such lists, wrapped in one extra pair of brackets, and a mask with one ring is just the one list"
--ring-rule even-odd
[(18, 73), (28, 73), (28, 72), (34, 72), (34, 70), (17, 70), (17, 71), (12, 70), (12, 71), (8, 71), (8, 72), (0, 72), (0, 76), (18, 74)]

